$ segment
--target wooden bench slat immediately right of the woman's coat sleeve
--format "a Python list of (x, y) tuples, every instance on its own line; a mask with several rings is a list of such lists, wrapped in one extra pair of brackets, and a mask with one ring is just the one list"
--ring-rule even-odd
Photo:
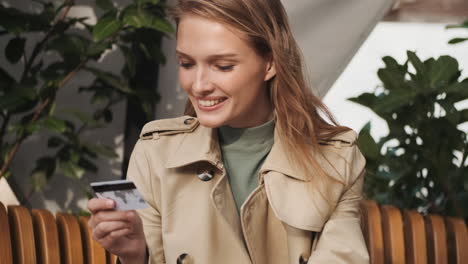
[(384, 263), (384, 244), (382, 235), (382, 218), (376, 202), (364, 200), (360, 204), (362, 229), (373, 264)]

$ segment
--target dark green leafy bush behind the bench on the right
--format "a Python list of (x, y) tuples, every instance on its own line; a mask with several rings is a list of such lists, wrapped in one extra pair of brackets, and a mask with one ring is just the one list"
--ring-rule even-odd
[(384, 57), (373, 93), (349, 98), (383, 118), (389, 134), (378, 141), (368, 123), (359, 133), (367, 159), (365, 193), (369, 199), (422, 213), (468, 217), (468, 137), (458, 126), (468, 109), (468, 79), (459, 80), (456, 59), (421, 61), (411, 51), (399, 64)]

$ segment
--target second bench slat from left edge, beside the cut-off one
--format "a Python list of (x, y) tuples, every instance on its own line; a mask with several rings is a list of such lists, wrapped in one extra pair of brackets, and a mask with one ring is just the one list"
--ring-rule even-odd
[(35, 264), (36, 246), (31, 214), (22, 206), (8, 206), (8, 218), (13, 241), (13, 262)]

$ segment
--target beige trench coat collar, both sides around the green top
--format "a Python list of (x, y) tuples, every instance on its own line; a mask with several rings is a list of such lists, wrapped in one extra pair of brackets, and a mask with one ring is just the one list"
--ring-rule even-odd
[[(306, 172), (298, 169), (289, 161), (288, 157), (290, 156), (275, 128), (274, 143), (260, 168), (260, 175), (276, 171), (298, 180), (308, 181)], [(169, 155), (166, 168), (178, 168), (201, 161), (209, 162), (222, 169), (222, 155), (217, 129), (199, 125), (195, 131), (184, 134), (179, 146)]]

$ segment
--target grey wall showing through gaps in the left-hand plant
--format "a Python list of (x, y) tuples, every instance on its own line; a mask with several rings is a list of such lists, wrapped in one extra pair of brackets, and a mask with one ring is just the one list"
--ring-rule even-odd
[[(122, 1), (119, 1), (121, 3)], [(13, 7), (24, 11), (34, 9), (30, 0), (3, 0), (2, 3), (7, 3)], [(95, 14), (90, 8), (94, 4), (93, 0), (76, 1), (77, 7), (70, 11), (70, 16), (89, 16), (91, 21), (95, 21)], [(34, 44), (39, 41), (43, 35), (31, 34), (27, 36), (26, 49), (31, 52)], [(0, 66), (6, 69), (15, 78), (20, 77), (23, 69), (22, 62), (16, 65), (10, 65), (3, 54), (4, 48), (8, 43), (9, 38), (0, 37)], [(53, 58), (45, 61), (45, 63), (53, 62)], [(117, 52), (109, 52), (101, 61), (100, 66), (105, 70), (119, 73), (122, 68), (123, 57)], [(63, 112), (68, 109), (78, 109), (83, 112), (91, 113), (93, 109), (86, 109), (83, 106), (89, 105), (89, 96), (86, 94), (78, 94), (77, 89), (80, 86), (86, 86), (93, 81), (93, 77), (85, 72), (79, 72), (71, 81), (66, 84), (57, 95), (57, 115), (63, 115)], [(80, 209), (86, 208), (86, 201), (83, 187), (88, 185), (90, 181), (119, 179), (122, 160), (122, 131), (124, 128), (125, 104), (116, 105), (113, 109), (114, 121), (105, 128), (96, 129), (86, 133), (84, 140), (93, 143), (103, 143), (109, 145), (117, 151), (120, 157), (115, 161), (99, 160), (98, 174), (87, 173), (82, 181), (69, 179), (61, 174), (55, 175), (49, 181), (47, 187), (40, 192), (34, 193), (29, 201), (30, 206), (35, 208), (48, 208), (51, 211), (73, 210), (77, 212)], [(28, 138), (20, 147), (19, 152), (15, 156), (11, 170), (13, 172), (11, 182), (20, 195), (28, 196), (31, 189), (29, 175), (34, 169), (35, 160), (38, 157), (51, 153), (47, 149), (47, 132), (40, 133)]]

